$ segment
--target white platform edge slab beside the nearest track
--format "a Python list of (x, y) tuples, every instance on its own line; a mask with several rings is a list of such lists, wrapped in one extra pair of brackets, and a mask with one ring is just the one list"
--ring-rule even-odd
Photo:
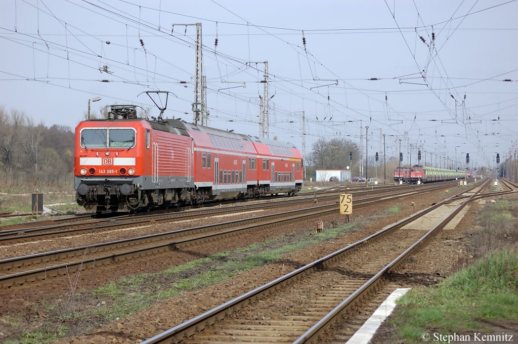
[(396, 308), (396, 300), (405, 295), (410, 288), (398, 288), (383, 301), (383, 303), (372, 313), (369, 319), (358, 328), (358, 331), (347, 341), (347, 344), (367, 344), (380, 325), (390, 316), (394, 308)]

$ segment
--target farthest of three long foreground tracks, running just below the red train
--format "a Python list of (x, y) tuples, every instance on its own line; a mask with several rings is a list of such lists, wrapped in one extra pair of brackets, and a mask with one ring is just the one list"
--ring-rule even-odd
[[(451, 183), (450, 183), (451, 184)], [(448, 184), (446, 184), (448, 185)], [(444, 187), (444, 184), (441, 184), (440, 187)], [(84, 221), (78, 221), (74, 218), (74, 221), (66, 222), (60, 221), (60, 223), (51, 223), (39, 226), (27, 226), (22, 228), (14, 228), (8, 229), (4, 231), (0, 231), (0, 245), (7, 245), (9, 243), (18, 243), (18, 242), (26, 242), (32, 240), (41, 240), (47, 238), (55, 238), (61, 236), (68, 235), (76, 235), (80, 233), (98, 233), (102, 231), (115, 230), (118, 228), (127, 228), (133, 227), (136, 225), (146, 225), (149, 223), (161, 223), (161, 222), (172, 222), (172, 221), (182, 221), (189, 219), (197, 219), (207, 216), (220, 216), (229, 213), (237, 213), (244, 211), (252, 211), (255, 209), (268, 209), (268, 208), (282, 208), (285, 206), (293, 206), (293, 205), (304, 205), (318, 202), (326, 202), (329, 199), (333, 199), (333, 197), (337, 197), (339, 195), (339, 191), (347, 191), (352, 193), (353, 195), (370, 195), (370, 194), (378, 194), (383, 192), (392, 192), (392, 194), (400, 194), (401, 192), (408, 192), (407, 190), (426, 190), (426, 188), (433, 188), (434, 190), (439, 187), (439, 185), (431, 185), (429, 187), (416, 187), (415, 185), (409, 185), (404, 188), (380, 188), (376, 190), (347, 190), (347, 189), (339, 189), (334, 192), (328, 192), (323, 196), (312, 196), (312, 194), (308, 194), (309, 198), (290, 198), (288, 200), (278, 200), (268, 203), (247, 203), (246, 205), (238, 205), (233, 207), (224, 207), (224, 208), (197, 208), (193, 210), (181, 211), (181, 212), (170, 212), (170, 211), (160, 211), (152, 214), (142, 214), (140, 216), (130, 216), (130, 215), (122, 215), (117, 217), (111, 217), (107, 219), (91, 219), (88, 218)], [(393, 193), (393, 191), (397, 190), (397, 193)], [(342, 191), (342, 192), (343, 192)], [(338, 192), (338, 193), (337, 193)], [(29, 223), (28, 225), (31, 225)]]

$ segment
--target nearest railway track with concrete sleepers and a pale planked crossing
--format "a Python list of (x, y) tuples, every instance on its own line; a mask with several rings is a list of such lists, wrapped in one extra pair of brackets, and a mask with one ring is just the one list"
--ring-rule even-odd
[[(504, 182), (505, 183), (505, 182)], [(390, 273), (479, 194), (476, 185), (146, 341), (151, 343), (341, 342), (344, 325), (375, 298)], [(389, 242), (391, 245), (380, 245)], [(349, 326), (345, 326), (349, 327)], [(358, 326), (359, 327), (359, 326)]]

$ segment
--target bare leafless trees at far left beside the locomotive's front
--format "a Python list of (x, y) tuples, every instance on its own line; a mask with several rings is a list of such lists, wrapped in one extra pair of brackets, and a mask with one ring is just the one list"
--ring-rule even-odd
[[(0, 106), (0, 189), (73, 185), (74, 131)], [(68, 184), (68, 185), (66, 185)]]

